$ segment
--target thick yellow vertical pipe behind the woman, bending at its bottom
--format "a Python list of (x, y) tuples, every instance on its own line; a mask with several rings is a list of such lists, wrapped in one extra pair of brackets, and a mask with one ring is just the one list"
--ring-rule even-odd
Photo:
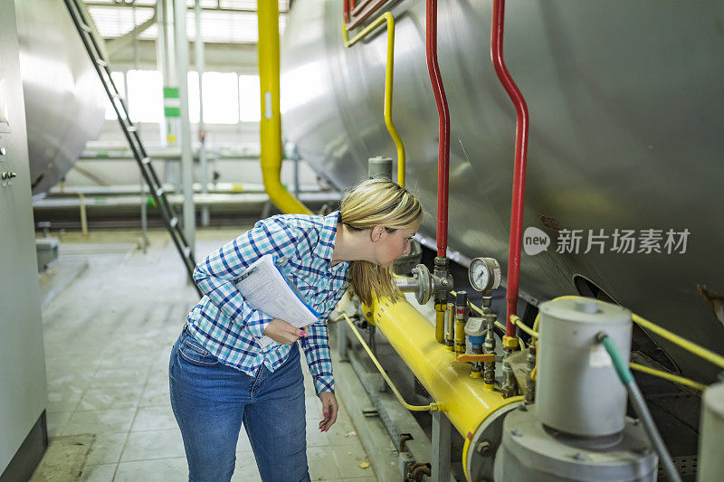
[(300, 200), (281, 185), (281, 113), (279, 106), (279, 5), (262, 1), (257, 5), (259, 24), (259, 82), (262, 93), (262, 177), (271, 202), (282, 213), (311, 214)]

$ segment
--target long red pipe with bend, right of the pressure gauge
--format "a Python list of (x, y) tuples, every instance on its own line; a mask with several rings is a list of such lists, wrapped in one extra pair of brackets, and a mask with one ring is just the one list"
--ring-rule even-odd
[(518, 86), (510, 77), (503, 61), (503, 22), (505, 0), (493, 0), (491, 29), (491, 59), (500, 82), (515, 105), (515, 166), (513, 167), (513, 200), (510, 208), (510, 248), (508, 250), (508, 316), (505, 334), (515, 336), (510, 317), (516, 314), (520, 280), (520, 239), (523, 230), (523, 200), (526, 188), (526, 156), (528, 155), (528, 106)]

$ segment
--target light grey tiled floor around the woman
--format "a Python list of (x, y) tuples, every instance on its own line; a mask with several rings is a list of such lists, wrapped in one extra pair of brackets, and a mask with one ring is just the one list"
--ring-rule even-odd
[[(233, 239), (239, 231), (201, 230), (197, 259)], [(95, 438), (80, 477), (88, 481), (185, 480), (181, 434), (168, 400), (168, 357), (197, 295), (166, 232), (153, 232), (148, 252), (138, 232), (62, 236), (54, 268), (88, 267), (43, 308), (48, 377), (48, 430), (59, 446), (80, 434)], [(74, 268), (75, 267), (75, 268)], [(65, 273), (67, 275), (67, 273)], [(53, 276), (44, 283), (52, 283)], [(44, 287), (45, 292), (49, 290)], [(377, 480), (344, 397), (338, 421), (328, 433), (315, 429), (319, 399), (306, 373), (308, 455), (312, 480)], [(66, 439), (63, 439), (66, 438)], [(261, 480), (244, 431), (232, 480)], [(43, 466), (52, 460), (43, 459)], [(57, 460), (54, 461), (57, 463)], [(57, 473), (57, 472), (56, 472)], [(33, 480), (62, 480), (36, 471)]]

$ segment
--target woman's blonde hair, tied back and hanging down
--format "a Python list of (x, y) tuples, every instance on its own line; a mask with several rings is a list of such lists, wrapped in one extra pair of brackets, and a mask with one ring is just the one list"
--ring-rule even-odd
[[(389, 179), (367, 179), (352, 186), (342, 197), (339, 222), (352, 231), (384, 226), (388, 232), (408, 229), (423, 221), (423, 207), (404, 187)], [(369, 261), (352, 261), (348, 270), (349, 288), (366, 305), (376, 298), (396, 301), (399, 290), (392, 279), (392, 268)]]

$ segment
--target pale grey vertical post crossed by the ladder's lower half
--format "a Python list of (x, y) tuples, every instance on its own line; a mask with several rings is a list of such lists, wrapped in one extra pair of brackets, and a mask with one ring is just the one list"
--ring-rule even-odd
[(194, 205), (194, 159), (191, 156), (191, 124), (188, 119), (188, 37), (186, 36), (186, 0), (174, 0), (174, 43), (178, 113), (181, 121), (181, 191), (184, 194), (184, 235), (194, 251), (196, 215)]

